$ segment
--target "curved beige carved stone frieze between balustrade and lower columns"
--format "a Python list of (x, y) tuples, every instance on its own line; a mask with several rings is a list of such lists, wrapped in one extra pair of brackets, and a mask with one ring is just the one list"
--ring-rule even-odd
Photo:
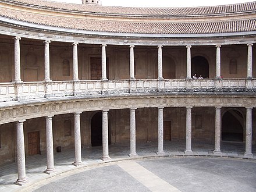
[(101, 111), (102, 109), (129, 109), (150, 107), (186, 107), (186, 106), (222, 106), (222, 107), (256, 107), (256, 98), (245, 95), (147, 95), (105, 98), (74, 98), (67, 101), (38, 102), (29, 105), (6, 106), (0, 111), (0, 124), (14, 122), (21, 119), (39, 118), (48, 115), (65, 113)]

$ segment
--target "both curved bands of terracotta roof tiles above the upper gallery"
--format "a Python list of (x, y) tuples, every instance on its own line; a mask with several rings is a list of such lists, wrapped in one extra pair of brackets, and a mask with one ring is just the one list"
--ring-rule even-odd
[[(0, 2), (3, 0), (0, 0)], [(248, 11), (254, 10), (256, 2), (252, 3), (242, 3), (237, 5), (227, 5), (227, 6), (214, 6), (208, 8), (109, 8), (102, 6), (88, 6), (88, 5), (72, 5), (66, 3), (55, 3), (48, 1), (35, 1), (35, 0), (8, 0), (8, 2), (22, 2), (22, 3), (33, 3), (34, 5), (55, 7), (59, 9), (69, 8), (74, 10), (74, 8), (85, 9), (88, 11), (97, 10), (98, 12), (108, 13), (121, 13), (126, 12), (128, 9), (134, 10), (133, 14), (157, 14), (168, 15), (172, 13), (175, 14), (191, 14), (195, 13), (207, 14), (208, 13), (223, 13), (232, 10), (237, 11)], [(20, 5), (21, 6), (21, 5)], [(162, 12), (162, 13), (161, 13)], [(72, 12), (69, 13), (72, 16)], [(131, 13), (130, 13), (131, 14)], [(0, 7), (0, 16), (8, 17), (10, 19), (15, 19), (19, 21), (42, 24), (45, 26), (55, 26), (63, 27), (66, 29), (79, 29), (87, 31), (101, 31), (101, 32), (112, 32), (112, 33), (138, 33), (138, 34), (211, 34), (211, 33), (234, 33), (243, 31), (256, 31), (255, 17), (239, 17), (240, 19), (226, 19), (226, 20), (197, 20), (197, 22), (175, 22), (174, 20), (160, 20), (158, 22), (151, 22), (150, 19), (147, 22), (140, 20), (111, 20), (111, 17), (100, 17), (97, 19), (88, 19), (87, 17), (66, 17), (66, 16), (54, 16), (47, 14), (39, 14), (36, 12), (24, 12), (21, 10), (8, 9)], [(210, 18), (210, 16), (209, 16)]]

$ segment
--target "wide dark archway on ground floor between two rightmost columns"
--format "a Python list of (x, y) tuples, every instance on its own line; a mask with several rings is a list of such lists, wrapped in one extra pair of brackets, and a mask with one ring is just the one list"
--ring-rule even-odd
[(222, 140), (243, 142), (243, 115), (239, 111), (230, 110), (223, 115)]

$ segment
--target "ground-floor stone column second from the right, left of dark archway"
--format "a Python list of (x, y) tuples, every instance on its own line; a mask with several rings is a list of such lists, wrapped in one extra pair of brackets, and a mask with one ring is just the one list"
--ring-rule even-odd
[(215, 107), (215, 148), (214, 154), (221, 154), (221, 107)]

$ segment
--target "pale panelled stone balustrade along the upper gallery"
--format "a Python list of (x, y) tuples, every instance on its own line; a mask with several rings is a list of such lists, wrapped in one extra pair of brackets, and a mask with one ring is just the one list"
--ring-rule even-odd
[(0, 102), (125, 93), (256, 92), (254, 79), (81, 80), (0, 83)]

